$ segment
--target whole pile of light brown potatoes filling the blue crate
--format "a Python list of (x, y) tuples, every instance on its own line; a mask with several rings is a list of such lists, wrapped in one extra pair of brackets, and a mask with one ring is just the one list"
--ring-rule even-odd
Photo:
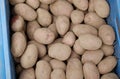
[(106, 0), (9, 0), (18, 79), (119, 79)]

